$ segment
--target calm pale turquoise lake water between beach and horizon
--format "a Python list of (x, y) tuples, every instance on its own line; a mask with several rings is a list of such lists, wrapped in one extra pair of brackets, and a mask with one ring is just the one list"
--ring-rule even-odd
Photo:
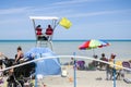
[[(93, 57), (93, 50), (79, 50), (79, 46), (84, 41), (82, 40), (55, 40), (53, 52), (58, 55), (73, 55), (75, 52), (76, 55)], [(95, 54), (100, 58), (100, 54), (104, 52), (107, 58), (111, 53), (115, 53), (117, 60), (130, 60), (131, 59), (131, 41), (121, 40), (121, 41), (108, 41), (110, 46), (94, 49)], [(34, 40), (2, 40), (0, 41), (0, 51), (3, 52), (7, 57), (14, 59), (16, 53), (16, 48), (21, 46), (23, 51), (26, 53), (31, 48), (36, 46)], [(63, 59), (64, 61), (67, 59)]]

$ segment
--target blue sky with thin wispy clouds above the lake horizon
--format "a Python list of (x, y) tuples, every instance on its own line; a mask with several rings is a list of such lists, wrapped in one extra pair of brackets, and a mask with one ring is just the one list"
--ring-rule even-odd
[(70, 29), (56, 27), (55, 40), (131, 39), (131, 0), (1, 0), (0, 39), (35, 39), (29, 16), (70, 20)]

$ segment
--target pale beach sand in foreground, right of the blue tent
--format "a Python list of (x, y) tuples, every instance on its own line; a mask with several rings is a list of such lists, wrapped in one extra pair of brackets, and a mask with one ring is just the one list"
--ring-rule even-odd
[[(73, 67), (67, 66), (68, 76), (47, 76), (43, 79), (46, 87), (74, 87)], [(131, 73), (126, 77), (131, 78)], [(43, 87), (43, 86), (39, 86)], [(106, 80), (106, 71), (76, 71), (76, 87), (114, 87), (114, 80)], [(131, 87), (123, 79), (116, 80), (116, 87)]]

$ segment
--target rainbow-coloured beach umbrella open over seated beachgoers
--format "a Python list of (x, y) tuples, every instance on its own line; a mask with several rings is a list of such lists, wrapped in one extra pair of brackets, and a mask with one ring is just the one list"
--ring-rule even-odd
[(90, 49), (92, 49), (92, 50), (93, 50), (93, 53), (95, 54), (94, 49), (107, 47), (107, 46), (109, 46), (109, 45), (110, 45), (109, 42), (104, 41), (104, 40), (90, 39), (90, 40), (83, 42), (83, 44), (79, 47), (79, 49), (80, 49), (80, 50), (90, 50)]

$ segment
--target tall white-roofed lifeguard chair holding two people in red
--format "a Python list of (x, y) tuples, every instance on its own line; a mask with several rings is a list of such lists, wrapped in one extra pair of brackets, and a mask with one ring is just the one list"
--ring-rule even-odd
[[(37, 47), (50, 47), (52, 50), (52, 37), (53, 37), (55, 28), (58, 25), (59, 17), (56, 17), (56, 16), (29, 16), (29, 18), (33, 21), (33, 25), (34, 25), (34, 30), (35, 30), (35, 36), (36, 36), (36, 46)], [(36, 32), (36, 27), (37, 27), (36, 20), (44, 21), (44, 22), (46, 22), (46, 21), (50, 22), (49, 24), (46, 24), (43, 22), (43, 24), (46, 24), (47, 27), (51, 26), (52, 33), (50, 33), (49, 35), (48, 35), (48, 33), (43, 33), (41, 35), (39, 35), (40, 39), (38, 39), (38, 35)]]

